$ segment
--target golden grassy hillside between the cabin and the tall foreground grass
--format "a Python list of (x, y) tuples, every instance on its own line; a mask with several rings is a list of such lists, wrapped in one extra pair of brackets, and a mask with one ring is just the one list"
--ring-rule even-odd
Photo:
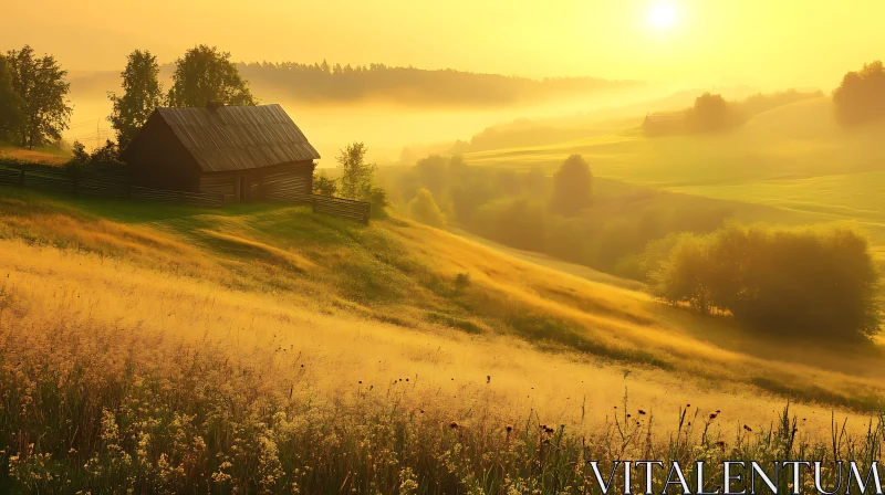
[(491, 376), (511, 413), (574, 420), (587, 397), (602, 419), (629, 387), (647, 407), (727, 403), (749, 418), (784, 394), (870, 410), (885, 375), (870, 366), (878, 349), (840, 360), (748, 338), (568, 265), (399, 220), (362, 228), (303, 208), (200, 211), (2, 189), (0, 238), (4, 324), (158, 333), (235, 355), (289, 349), (312, 364), (320, 392), (420, 377), (415, 400), (441, 390), (459, 410), (455, 399), (485, 393)]

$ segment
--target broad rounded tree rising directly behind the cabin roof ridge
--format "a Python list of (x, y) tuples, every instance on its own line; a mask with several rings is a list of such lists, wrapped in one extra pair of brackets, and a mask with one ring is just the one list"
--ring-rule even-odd
[(188, 50), (175, 62), (168, 99), (175, 107), (202, 107), (209, 102), (235, 106), (258, 104), (249, 83), (230, 61), (230, 53), (205, 44)]

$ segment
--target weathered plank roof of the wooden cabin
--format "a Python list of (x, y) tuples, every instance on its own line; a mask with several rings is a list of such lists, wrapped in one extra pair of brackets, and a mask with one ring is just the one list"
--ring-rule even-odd
[(248, 170), (320, 154), (280, 105), (157, 108), (204, 172)]

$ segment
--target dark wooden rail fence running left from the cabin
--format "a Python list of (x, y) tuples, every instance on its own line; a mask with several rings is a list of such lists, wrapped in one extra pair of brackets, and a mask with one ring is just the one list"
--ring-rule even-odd
[(107, 170), (69, 172), (45, 166), (0, 165), (0, 185), (21, 186), (73, 194), (131, 198), (194, 207), (223, 207), (225, 197), (211, 193), (163, 191), (132, 186), (125, 173)]

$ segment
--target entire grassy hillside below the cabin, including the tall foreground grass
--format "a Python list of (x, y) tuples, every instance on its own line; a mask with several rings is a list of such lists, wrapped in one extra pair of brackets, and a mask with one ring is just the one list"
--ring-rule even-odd
[(18, 489), (556, 493), (585, 455), (812, 449), (885, 393), (878, 345), (753, 337), (397, 219), (0, 189), (0, 251)]

